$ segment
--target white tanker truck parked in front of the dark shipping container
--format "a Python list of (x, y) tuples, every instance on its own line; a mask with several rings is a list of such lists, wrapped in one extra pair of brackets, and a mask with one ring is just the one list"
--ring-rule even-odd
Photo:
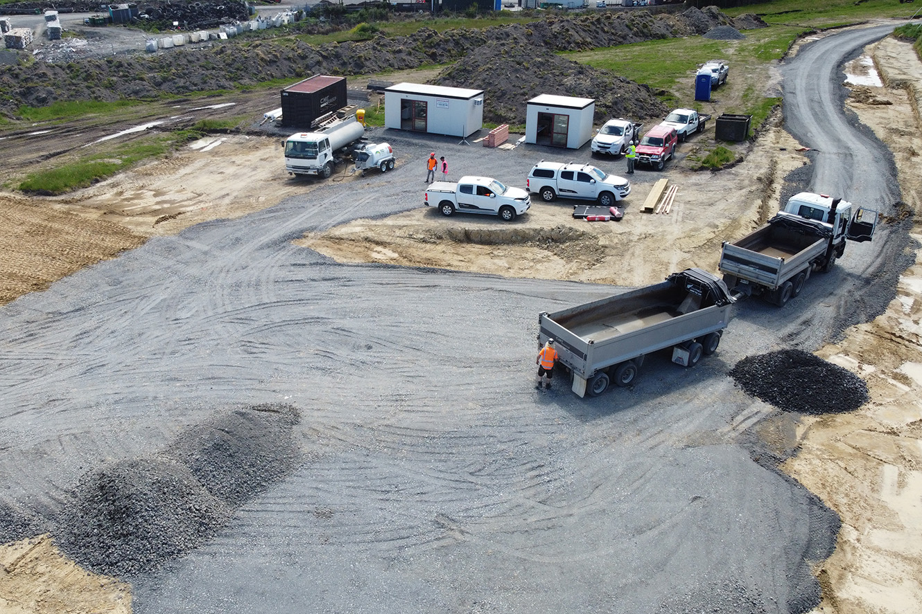
[(320, 175), (327, 179), (349, 149), (361, 141), (365, 126), (355, 114), (334, 120), (311, 133), (294, 133), (285, 141), (285, 169), (291, 175)]

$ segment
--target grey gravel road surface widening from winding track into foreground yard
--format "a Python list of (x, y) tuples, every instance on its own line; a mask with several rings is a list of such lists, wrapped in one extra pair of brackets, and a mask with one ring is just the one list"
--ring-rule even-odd
[[(814, 95), (788, 82), (811, 71), (831, 95), (808, 99), (840, 121), (837, 66), (890, 29), (798, 53), (785, 69), (793, 130), (800, 97)], [(811, 65), (821, 45), (825, 64)], [(435, 143), (455, 168), (488, 155), (456, 139), (387, 138), (413, 159)], [(898, 200), (871, 137), (810, 146), (817, 189), (838, 191), (832, 163), (846, 198)], [(536, 156), (519, 148), (492, 166), (520, 184)], [(881, 167), (858, 185), (870, 160)], [(610, 287), (340, 265), (291, 244), (419, 206), (422, 177), (408, 166), (349, 193), (312, 184), (0, 309), (0, 504), (15, 512), (0, 534), (53, 528), (81, 476), (152, 458), (215, 408), (285, 403), (301, 413), (293, 437), (306, 460), (216, 539), (133, 578), (136, 612), (781, 614), (817, 603), (810, 562), (832, 550), (838, 518), (739, 444), (773, 410), (727, 372), (751, 353), (811, 349), (843, 314), (881, 310), (900, 226), (810, 280), (796, 309), (740, 305), (720, 351), (694, 369), (650, 356), (634, 388), (580, 400), (533, 388), (537, 314)]]

